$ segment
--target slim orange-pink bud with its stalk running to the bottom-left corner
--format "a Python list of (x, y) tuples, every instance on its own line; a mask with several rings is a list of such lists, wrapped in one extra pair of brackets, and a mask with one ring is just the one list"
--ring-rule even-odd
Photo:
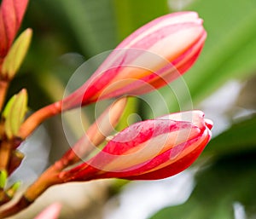
[(67, 167), (70, 167), (70, 165), (80, 162), (105, 140), (106, 136), (108, 136), (118, 124), (125, 110), (125, 106), (125, 97), (114, 101), (113, 104), (96, 119), (96, 122), (90, 126), (86, 134), (81, 137), (67, 153), (56, 161), (55, 164), (45, 170), (36, 182), (32, 183), (32, 185), (27, 188), (24, 195), (15, 205), (7, 210), (0, 211), (0, 218), (14, 215), (20, 210), (25, 209), (31, 205), (35, 199), (38, 199), (47, 188), (66, 182), (64, 179), (61, 179), (61, 172)]

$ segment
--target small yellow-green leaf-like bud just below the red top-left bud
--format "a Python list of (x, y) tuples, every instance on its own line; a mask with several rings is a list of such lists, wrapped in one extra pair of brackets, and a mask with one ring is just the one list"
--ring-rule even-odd
[(15, 73), (19, 70), (22, 61), (26, 56), (27, 49), (32, 38), (32, 30), (26, 29), (26, 31), (20, 34), (15, 40), (15, 43), (9, 49), (9, 53), (3, 60), (2, 73), (3, 77), (12, 79), (15, 77)]

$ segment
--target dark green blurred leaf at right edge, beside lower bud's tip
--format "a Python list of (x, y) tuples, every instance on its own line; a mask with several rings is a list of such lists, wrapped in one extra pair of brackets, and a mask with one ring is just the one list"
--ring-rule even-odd
[(229, 130), (213, 138), (206, 147), (205, 153), (231, 155), (256, 151), (256, 115), (240, 123), (233, 124)]

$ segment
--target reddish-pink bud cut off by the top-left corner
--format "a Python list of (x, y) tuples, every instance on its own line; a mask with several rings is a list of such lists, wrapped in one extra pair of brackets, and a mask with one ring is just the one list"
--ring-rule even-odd
[[(28, 0), (3, 0), (0, 8), (0, 64), (7, 54), (26, 11)], [(0, 65), (1, 66), (1, 65)]]

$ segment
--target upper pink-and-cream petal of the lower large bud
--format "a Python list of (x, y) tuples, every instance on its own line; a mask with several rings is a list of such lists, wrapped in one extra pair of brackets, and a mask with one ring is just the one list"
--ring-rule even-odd
[[(191, 123), (172, 120), (147, 120), (133, 124), (115, 135), (102, 151), (86, 164), (65, 173), (65, 177), (91, 175), (98, 171), (119, 171), (152, 159), (159, 153), (200, 134)], [(64, 177), (64, 175), (63, 175)]]

